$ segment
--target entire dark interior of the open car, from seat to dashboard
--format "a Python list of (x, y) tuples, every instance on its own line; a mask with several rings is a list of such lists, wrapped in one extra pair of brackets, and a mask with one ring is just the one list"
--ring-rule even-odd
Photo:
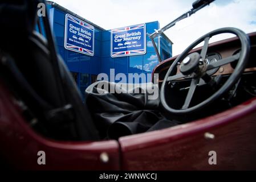
[[(153, 74), (158, 73), (159, 77), (152, 80), (158, 84), (156, 100), (148, 100), (143, 85), (133, 89), (144, 89), (145, 93), (97, 93), (95, 88), (102, 83), (99, 81), (85, 90), (83, 103), (66, 65), (56, 53), (48, 18), (43, 18), (46, 38), (34, 31), (35, 1), (5, 1), (0, 7), (1, 25), (9, 28), (9, 34), (18, 34), (24, 45), (14, 49), (8, 42), (15, 41), (15, 36), (7, 40), (0, 29), (0, 105), (14, 104), (30, 128), (43, 138), (119, 140), (126, 135), (194, 122), (256, 96), (256, 33), (247, 35), (226, 27), (195, 38), (180, 55), (157, 65)], [(10, 23), (13, 21), (16, 23)], [(222, 33), (235, 37), (209, 44), (212, 36)], [(201, 42), (202, 47), (194, 48)], [(27, 63), (33, 69), (27, 68)], [(107, 84), (109, 88), (116, 85)], [(5, 117), (1, 110), (0, 117)], [(0, 133), (1, 143), (5, 143), (3, 139), (8, 134)]]

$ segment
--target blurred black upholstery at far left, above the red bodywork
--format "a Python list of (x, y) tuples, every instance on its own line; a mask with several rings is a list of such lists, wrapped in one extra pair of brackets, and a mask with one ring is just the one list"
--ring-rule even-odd
[(10, 34), (18, 34), (6, 38), (0, 30), (0, 59), (7, 60), (0, 64), (1, 78), (27, 106), (26, 118), (36, 118), (33, 127), (39, 133), (59, 140), (96, 140), (97, 130), (66, 65), (59, 55), (58, 60), (51, 59), (47, 40), (34, 31), (36, 4), (0, 4), (0, 23)]

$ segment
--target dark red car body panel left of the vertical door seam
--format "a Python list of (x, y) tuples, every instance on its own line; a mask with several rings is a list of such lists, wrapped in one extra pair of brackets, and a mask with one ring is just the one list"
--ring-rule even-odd
[[(0, 165), (15, 169), (117, 170), (119, 144), (100, 142), (59, 142), (44, 138), (23, 119), (19, 107), (0, 81)], [(38, 164), (44, 151), (46, 164)], [(104, 160), (102, 160), (104, 155)], [(108, 160), (107, 160), (107, 159)]]

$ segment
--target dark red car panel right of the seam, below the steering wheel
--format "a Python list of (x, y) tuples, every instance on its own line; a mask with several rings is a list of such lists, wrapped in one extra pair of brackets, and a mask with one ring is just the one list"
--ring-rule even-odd
[[(120, 138), (121, 169), (256, 169), (255, 118), (256, 98), (196, 122)], [(210, 151), (216, 165), (208, 162)]]

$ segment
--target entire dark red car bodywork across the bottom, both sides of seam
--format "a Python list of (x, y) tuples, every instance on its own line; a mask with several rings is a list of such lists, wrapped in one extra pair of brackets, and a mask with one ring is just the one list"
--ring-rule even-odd
[[(17, 169), (256, 169), (255, 131), (256, 97), (198, 121), (118, 141), (59, 142), (27, 124), (0, 81), (0, 154)], [(46, 165), (38, 165), (38, 151), (46, 153)], [(209, 151), (216, 151), (217, 165), (209, 165)], [(107, 162), (100, 158), (103, 152)]]

